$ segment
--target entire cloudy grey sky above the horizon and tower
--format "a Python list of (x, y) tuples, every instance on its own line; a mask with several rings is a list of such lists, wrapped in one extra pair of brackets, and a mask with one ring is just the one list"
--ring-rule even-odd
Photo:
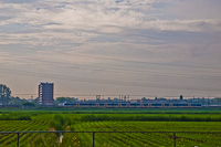
[(220, 0), (1, 0), (0, 83), (22, 98), (41, 82), (55, 97), (221, 96), (220, 13)]

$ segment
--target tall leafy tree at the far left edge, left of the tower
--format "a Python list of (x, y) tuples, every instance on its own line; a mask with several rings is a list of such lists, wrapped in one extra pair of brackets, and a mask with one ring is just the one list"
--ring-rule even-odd
[(11, 96), (11, 91), (7, 85), (0, 84), (0, 103), (3, 104), (8, 104), (10, 101), (10, 96)]

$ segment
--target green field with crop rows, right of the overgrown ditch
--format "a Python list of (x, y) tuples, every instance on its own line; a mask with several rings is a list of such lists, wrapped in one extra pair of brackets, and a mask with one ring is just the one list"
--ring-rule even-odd
[[(180, 123), (180, 122), (95, 122), (74, 126), (75, 130), (88, 129), (93, 132), (212, 132), (220, 130), (220, 123)], [(172, 133), (97, 133), (96, 146), (172, 146)], [(177, 146), (220, 146), (220, 134), (185, 134), (178, 133)], [(206, 139), (207, 138), (207, 139)], [(82, 146), (92, 144), (92, 134), (78, 135)], [(88, 141), (83, 141), (88, 140)]]

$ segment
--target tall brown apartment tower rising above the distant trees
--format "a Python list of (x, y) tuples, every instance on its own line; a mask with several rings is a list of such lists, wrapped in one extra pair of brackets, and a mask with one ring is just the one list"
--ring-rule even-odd
[(54, 83), (40, 83), (39, 85), (39, 104), (53, 105)]

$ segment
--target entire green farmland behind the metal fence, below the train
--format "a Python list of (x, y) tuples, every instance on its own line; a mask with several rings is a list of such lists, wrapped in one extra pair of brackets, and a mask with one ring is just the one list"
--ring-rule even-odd
[[(221, 132), (220, 109), (0, 109), (0, 132)], [(173, 146), (172, 133), (96, 133), (95, 147)], [(92, 133), (20, 134), (20, 146), (92, 146)], [(220, 134), (176, 134), (179, 147), (218, 147)], [(17, 135), (0, 135), (0, 146), (14, 147)]]

